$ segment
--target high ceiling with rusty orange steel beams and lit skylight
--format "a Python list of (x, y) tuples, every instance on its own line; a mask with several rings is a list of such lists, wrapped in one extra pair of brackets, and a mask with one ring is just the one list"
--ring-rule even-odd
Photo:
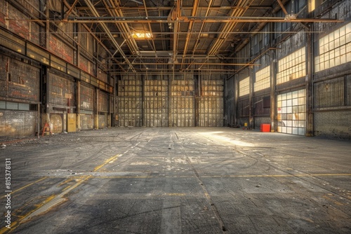
[[(64, 0), (110, 50), (112, 72), (225, 71), (234, 52), (284, 4), (273, 0)], [(309, 19), (296, 20), (306, 22)]]

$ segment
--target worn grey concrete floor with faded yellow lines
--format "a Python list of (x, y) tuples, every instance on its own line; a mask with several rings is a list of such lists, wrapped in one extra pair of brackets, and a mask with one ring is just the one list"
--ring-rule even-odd
[(0, 233), (351, 233), (350, 141), (112, 128), (0, 154), (1, 196), (5, 158), (12, 190)]

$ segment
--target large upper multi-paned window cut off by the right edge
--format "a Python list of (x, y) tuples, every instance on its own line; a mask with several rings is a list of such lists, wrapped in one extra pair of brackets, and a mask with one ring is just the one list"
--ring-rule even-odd
[(351, 23), (319, 39), (314, 70), (323, 71), (346, 62), (351, 62)]

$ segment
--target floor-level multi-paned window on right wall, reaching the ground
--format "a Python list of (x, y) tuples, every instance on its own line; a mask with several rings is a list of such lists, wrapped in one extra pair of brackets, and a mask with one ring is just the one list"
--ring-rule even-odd
[(277, 132), (305, 135), (305, 89), (277, 96)]

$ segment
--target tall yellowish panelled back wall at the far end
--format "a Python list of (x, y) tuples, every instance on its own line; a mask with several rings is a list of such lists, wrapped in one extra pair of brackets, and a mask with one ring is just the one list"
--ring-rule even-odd
[(197, 97), (196, 79), (155, 78), (159, 80), (124, 76), (118, 81), (119, 126), (223, 126), (223, 80), (202, 81), (202, 96)]

